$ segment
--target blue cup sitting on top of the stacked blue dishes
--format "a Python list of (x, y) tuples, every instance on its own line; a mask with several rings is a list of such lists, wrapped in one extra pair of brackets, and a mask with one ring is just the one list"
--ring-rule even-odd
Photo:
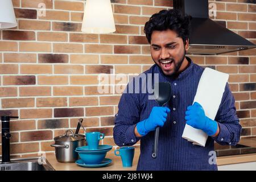
[(104, 139), (104, 134), (100, 132), (89, 132), (85, 134), (86, 142), (90, 150), (97, 150), (98, 143), (100, 140)]

